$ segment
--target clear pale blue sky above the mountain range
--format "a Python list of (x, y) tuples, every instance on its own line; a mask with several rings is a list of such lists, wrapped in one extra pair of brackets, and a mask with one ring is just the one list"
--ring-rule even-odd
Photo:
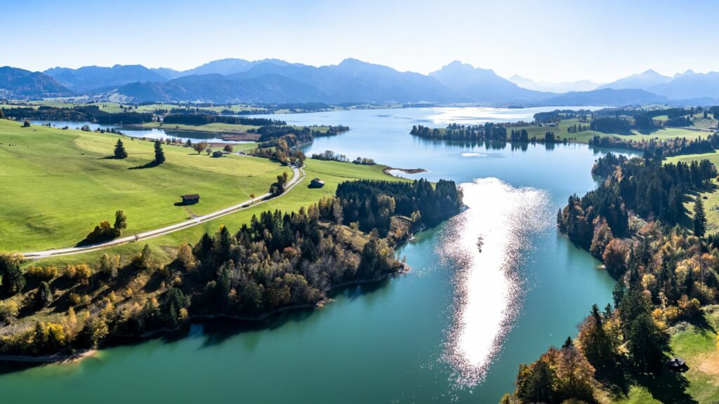
[(429, 73), (452, 60), (535, 81), (719, 70), (719, 1), (0, 0), (0, 65), (357, 58)]

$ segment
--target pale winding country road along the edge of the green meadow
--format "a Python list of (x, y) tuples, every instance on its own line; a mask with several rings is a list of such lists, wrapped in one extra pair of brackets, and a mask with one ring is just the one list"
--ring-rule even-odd
[[(300, 183), (303, 178), (305, 178), (305, 171), (302, 169), (302, 167), (292, 167), (292, 173), (293, 177), (290, 179), (285, 185), (285, 193), (288, 193), (292, 188), (295, 187), (298, 183)], [(203, 216), (197, 216), (193, 219), (189, 219), (186, 221), (182, 221), (177, 224), (173, 224), (170, 226), (162, 227), (161, 229), (155, 229), (150, 231), (145, 231), (144, 233), (139, 233), (134, 236), (127, 236), (127, 237), (121, 237), (119, 239), (110, 240), (109, 242), (104, 242), (100, 244), (92, 244), (88, 246), (83, 247), (68, 247), (68, 248), (61, 248), (61, 249), (47, 249), (45, 251), (38, 251), (38, 252), (24, 252), (22, 255), (30, 260), (39, 260), (40, 258), (47, 258), (47, 257), (60, 257), (63, 255), (72, 255), (72, 254), (81, 254), (83, 252), (91, 252), (91, 251), (97, 251), (99, 249), (106, 249), (109, 247), (114, 247), (119, 244), (125, 244), (129, 242), (139, 242), (142, 240), (152, 239), (153, 237), (160, 237), (164, 236), (165, 234), (170, 234), (175, 231), (188, 229), (192, 226), (197, 226), (198, 224), (203, 224), (206, 221), (211, 221), (214, 219), (217, 219), (222, 216), (226, 216), (229, 214), (234, 214), (238, 211), (244, 211), (244, 209), (251, 208), (252, 206), (257, 206), (260, 203), (265, 203), (267, 201), (272, 201), (275, 198), (280, 198), (283, 195), (283, 193), (280, 196), (275, 196), (274, 198), (270, 198), (270, 193), (265, 193), (260, 196), (257, 196), (255, 198), (255, 201), (259, 201), (257, 203), (251, 204), (252, 200), (244, 201), (241, 203), (237, 203), (237, 205), (230, 206), (229, 208), (224, 208), (219, 211), (214, 211), (211, 214), (206, 214)]]

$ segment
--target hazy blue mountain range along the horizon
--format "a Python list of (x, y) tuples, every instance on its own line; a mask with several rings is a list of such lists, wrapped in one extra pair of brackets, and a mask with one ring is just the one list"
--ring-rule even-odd
[(719, 104), (719, 73), (673, 77), (654, 70), (600, 85), (536, 83), (458, 61), (429, 75), (346, 59), (311, 66), (284, 60), (222, 59), (190, 70), (143, 65), (0, 68), (0, 98), (89, 95), (122, 102), (437, 103), (501, 105)]

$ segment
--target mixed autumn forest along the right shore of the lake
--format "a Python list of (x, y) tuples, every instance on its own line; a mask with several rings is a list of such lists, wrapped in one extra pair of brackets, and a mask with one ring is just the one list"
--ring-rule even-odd
[[(717, 301), (718, 237), (706, 234), (698, 196), (713, 186), (715, 167), (609, 153), (592, 173), (605, 180), (581, 198), (570, 196), (557, 225), (616, 277), (613, 301), (588, 308), (576, 338), (522, 364), (515, 392), (501, 403), (595, 403), (627, 385), (656, 387), (659, 375), (672, 372), (672, 329), (702, 323), (702, 306)], [(689, 216), (684, 202), (692, 199)], [(685, 402), (682, 390), (667, 394)]]

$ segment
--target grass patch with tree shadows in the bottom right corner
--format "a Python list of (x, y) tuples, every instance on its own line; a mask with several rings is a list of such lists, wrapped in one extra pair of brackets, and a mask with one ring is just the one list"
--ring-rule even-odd
[(613, 403), (719, 403), (719, 306), (705, 306), (703, 318), (675, 326), (669, 342), (672, 357), (687, 361), (687, 372), (664, 371), (646, 385), (631, 385), (626, 396)]

